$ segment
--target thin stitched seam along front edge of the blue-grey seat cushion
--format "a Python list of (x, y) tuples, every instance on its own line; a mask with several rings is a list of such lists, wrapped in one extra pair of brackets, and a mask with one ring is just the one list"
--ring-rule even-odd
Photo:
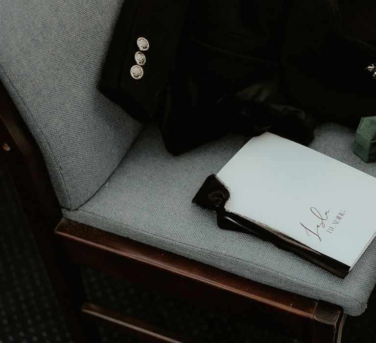
[[(94, 215), (94, 216), (96, 216), (96, 217), (103, 218), (103, 219), (105, 219), (105, 220), (107, 220), (107, 221), (113, 221), (113, 222), (115, 222), (115, 223), (118, 223), (118, 224), (123, 225), (123, 223), (120, 222), (120, 221), (115, 221), (115, 220), (113, 220), (113, 219), (103, 217), (103, 216), (101, 216), (101, 215), (98, 215), (98, 214), (96, 214), (96, 213), (93, 213), (93, 212), (90, 212), (90, 211), (87, 211), (87, 210), (83, 210), (83, 209), (80, 209), (80, 208), (79, 208), (79, 209), (77, 209), (77, 210), (75, 210), (75, 211), (86, 212), (86, 213), (92, 214), (92, 215)], [(203, 250), (203, 251), (208, 251), (208, 252), (211, 252), (211, 253), (214, 252), (214, 251), (212, 251), (212, 250), (208, 250), (208, 249), (205, 249), (205, 248), (202, 248), (202, 247), (197, 247), (197, 246), (194, 246), (194, 245), (189, 245), (189, 244), (187, 244), (187, 243), (179, 242), (179, 241), (173, 240), (173, 239), (171, 239), (171, 238), (169, 238), (169, 237), (165, 237), (165, 236), (158, 235), (158, 234), (155, 234), (155, 233), (150, 233), (150, 232), (148, 232), (148, 231), (146, 231), (146, 230), (142, 230), (142, 229), (136, 228), (136, 227), (134, 227), (134, 226), (129, 226), (129, 225), (128, 225), (128, 226), (125, 226), (125, 227), (128, 227), (128, 228), (134, 229), (134, 230), (136, 230), (136, 231), (140, 231), (140, 232), (146, 233), (146, 234), (148, 234), (149, 236), (160, 237), (160, 238), (163, 238), (163, 239), (166, 239), (166, 240), (168, 240), (168, 241), (175, 242), (175, 243), (178, 243), (178, 244), (181, 244), (181, 245), (187, 245), (187, 246), (194, 247), (194, 248), (196, 248), (196, 249), (200, 249), (200, 250)], [(217, 254), (217, 255), (222, 255), (222, 256), (229, 257), (229, 258), (231, 258), (231, 259), (233, 259), (233, 260), (239, 260), (239, 261), (242, 261), (242, 262), (249, 263), (249, 261), (243, 260), (242, 258), (235, 257), (235, 256), (231, 256), (231, 255), (227, 255), (227, 254), (224, 254), (224, 253), (222, 253), (222, 252), (214, 252), (214, 253)], [(299, 282), (304, 283), (306, 286), (311, 286), (311, 285), (312, 285), (312, 283), (308, 283), (308, 282), (306, 282), (306, 281), (304, 281), (304, 280), (301, 280), (301, 279), (298, 279), (298, 278), (296, 278), (296, 277), (294, 277), (294, 276), (287, 275), (287, 274), (285, 274), (285, 273), (282, 273), (281, 271), (272, 270), (272, 269), (270, 269), (270, 268), (268, 268), (268, 267), (260, 266), (259, 264), (254, 263), (254, 262), (252, 262), (252, 263), (253, 263), (254, 265), (258, 266), (259, 268), (263, 269), (263, 270), (269, 270), (269, 271), (277, 272), (278, 274), (280, 274), (280, 275), (282, 275), (282, 276), (285, 276), (285, 277), (291, 277), (291, 278), (294, 279), (295, 281), (299, 281)], [(319, 287), (319, 288), (321, 288), (321, 289), (324, 289), (325, 291), (336, 292), (336, 294), (341, 294), (341, 295), (344, 296), (344, 297), (350, 298), (350, 299), (354, 300), (354, 302), (357, 303), (357, 304), (359, 305), (359, 307), (361, 307), (361, 308), (367, 305), (367, 303), (366, 303), (366, 304), (362, 304), (358, 299), (356, 299), (355, 297), (350, 296), (350, 295), (348, 295), (348, 294), (344, 294), (344, 293), (342, 293), (342, 292), (335, 291), (335, 290), (332, 290), (332, 289), (329, 289), (329, 288), (326, 288), (326, 287), (321, 287), (321, 286), (319, 286), (319, 285), (317, 285), (317, 284), (314, 284), (314, 286)]]

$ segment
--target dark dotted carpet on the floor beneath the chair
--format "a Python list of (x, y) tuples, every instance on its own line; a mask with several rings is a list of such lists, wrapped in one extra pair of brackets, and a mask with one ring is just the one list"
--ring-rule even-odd
[[(124, 283), (94, 270), (83, 269), (89, 300), (200, 342), (296, 342), (246, 320), (198, 307)], [(350, 317), (343, 342), (376, 342), (376, 296), (367, 311)], [(136, 343), (99, 328), (102, 342)], [(54, 298), (33, 236), (27, 227), (11, 179), (0, 160), (0, 343), (68, 343), (64, 319)]]

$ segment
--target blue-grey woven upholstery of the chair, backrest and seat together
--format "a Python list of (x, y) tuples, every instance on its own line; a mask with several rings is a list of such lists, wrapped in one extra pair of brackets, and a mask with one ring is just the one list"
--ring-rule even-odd
[[(0, 79), (45, 157), (67, 218), (361, 314), (376, 282), (376, 241), (345, 279), (216, 226), (191, 203), (245, 143), (227, 135), (179, 157), (96, 89), (121, 0), (0, 2)], [(141, 132), (141, 133), (140, 133)], [(376, 176), (352, 153), (353, 131), (316, 130), (311, 147)]]

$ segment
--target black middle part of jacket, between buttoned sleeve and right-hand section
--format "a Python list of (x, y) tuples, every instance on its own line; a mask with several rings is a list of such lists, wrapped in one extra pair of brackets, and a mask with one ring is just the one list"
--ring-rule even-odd
[(287, 103), (279, 64), (283, 0), (190, 2), (160, 123), (173, 154), (238, 132), (307, 145), (317, 121)]

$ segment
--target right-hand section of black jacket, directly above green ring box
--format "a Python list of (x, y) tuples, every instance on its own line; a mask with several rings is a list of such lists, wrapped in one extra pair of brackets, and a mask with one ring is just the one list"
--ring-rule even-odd
[(376, 1), (296, 0), (286, 18), (281, 66), (288, 102), (356, 128), (376, 114)]

